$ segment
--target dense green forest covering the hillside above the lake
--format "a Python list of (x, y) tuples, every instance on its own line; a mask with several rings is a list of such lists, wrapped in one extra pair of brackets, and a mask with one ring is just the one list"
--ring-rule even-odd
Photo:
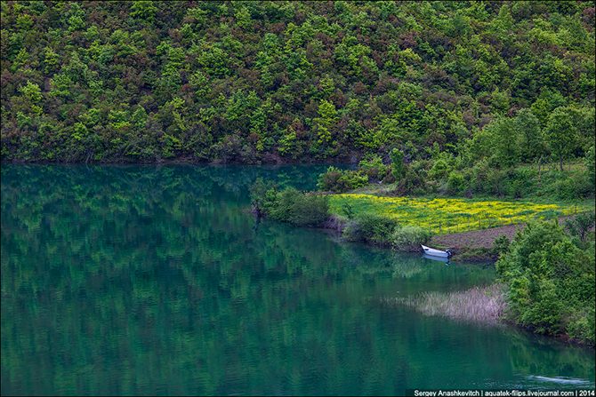
[(593, 145), (592, 2), (1, 7), (3, 160), (387, 161), (398, 148), (440, 173)]

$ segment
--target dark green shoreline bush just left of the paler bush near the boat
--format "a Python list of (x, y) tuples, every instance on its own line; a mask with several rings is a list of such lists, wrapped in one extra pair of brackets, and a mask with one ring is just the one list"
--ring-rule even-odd
[(375, 214), (360, 214), (343, 229), (343, 237), (352, 242), (372, 242), (391, 245), (391, 236), (398, 223), (391, 218)]

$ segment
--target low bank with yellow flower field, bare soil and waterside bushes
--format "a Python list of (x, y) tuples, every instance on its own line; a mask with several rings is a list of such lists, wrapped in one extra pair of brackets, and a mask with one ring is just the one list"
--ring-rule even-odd
[[(593, 208), (581, 202), (396, 197), (365, 193), (303, 193), (269, 182), (253, 187), (254, 209), (296, 226), (333, 228), (349, 241), (417, 251), (421, 243), (450, 248), (458, 260), (495, 261), (498, 240), (537, 219), (573, 216)], [(458, 238), (461, 237), (461, 238)]]

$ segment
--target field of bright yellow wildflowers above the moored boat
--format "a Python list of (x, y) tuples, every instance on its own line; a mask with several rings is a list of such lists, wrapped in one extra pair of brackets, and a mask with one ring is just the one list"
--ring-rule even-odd
[(534, 218), (553, 218), (576, 211), (572, 205), (534, 202), (383, 197), (366, 194), (329, 196), (329, 207), (335, 215), (345, 218), (346, 206), (354, 214), (372, 213), (395, 218), (401, 225), (426, 227), (435, 234), (524, 223)]

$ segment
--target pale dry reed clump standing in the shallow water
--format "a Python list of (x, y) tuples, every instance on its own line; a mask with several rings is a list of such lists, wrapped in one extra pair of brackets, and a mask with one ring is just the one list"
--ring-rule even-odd
[(385, 298), (384, 301), (413, 307), (426, 315), (483, 323), (499, 322), (506, 305), (503, 286), (499, 284), (456, 292), (423, 292), (416, 297)]

